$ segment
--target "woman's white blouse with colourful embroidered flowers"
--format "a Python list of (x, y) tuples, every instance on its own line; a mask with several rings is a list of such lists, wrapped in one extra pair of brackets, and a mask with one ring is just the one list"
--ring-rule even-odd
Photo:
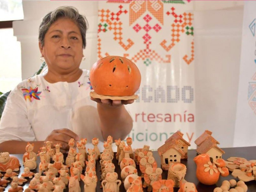
[(91, 89), (88, 70), (72, 83), (49, 83), (42, 74), (22, 81), (7, 98), (0, 120), (0, 143), (45, 140), (53, 130), (68, 128), (87, 138), (86, 148), (93, 148), (89, 144), (92, 138), (103, 138)]

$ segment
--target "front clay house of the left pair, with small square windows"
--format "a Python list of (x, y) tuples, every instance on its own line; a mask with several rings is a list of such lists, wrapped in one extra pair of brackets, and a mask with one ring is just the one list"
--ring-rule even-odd
[(178, 147), (177, 141), (170, 139), (157, 149), (158, 155), (161, 158), (163, 170), (169, 170), (170, 163), (180, 163), (181, 156), (185, 153)]

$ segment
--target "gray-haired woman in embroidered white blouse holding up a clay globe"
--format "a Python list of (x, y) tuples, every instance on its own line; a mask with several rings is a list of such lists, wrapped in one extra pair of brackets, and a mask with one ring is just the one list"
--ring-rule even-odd
[(48, 71), (10, 93), (0, 121), (0, 151), (23, 153), (28, 141), (36, 151), (49, 140), (66, 152), (71, 138), (88, 143), (108, 135), (124, 139), (131, 131), (132, 118), (123, 104), (134, 100), (90, 100), (89, 72), (79, 68), (86, 29), (85, 17), (73, 7), (59, 7), (43, 18), (39, 49)]

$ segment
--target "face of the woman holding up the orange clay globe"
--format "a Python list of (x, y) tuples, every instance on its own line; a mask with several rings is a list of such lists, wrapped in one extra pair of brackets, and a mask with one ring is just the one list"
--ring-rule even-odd
[(44, 37), (39, 48), (49, 70), (69, 73), (80, 66), (83, 58), (83, 40), (76, 23), (67, 18), (56, 20)]

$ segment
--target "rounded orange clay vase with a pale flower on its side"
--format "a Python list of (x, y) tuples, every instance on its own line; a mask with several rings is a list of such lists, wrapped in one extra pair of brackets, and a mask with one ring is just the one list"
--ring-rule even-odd
[(201, 154), (194, 158), (196, 163), (196, 177), (205, 185), (214, 185), (220, 177), (220, 172), (216, 165), (210, 161), (208, 154)]

